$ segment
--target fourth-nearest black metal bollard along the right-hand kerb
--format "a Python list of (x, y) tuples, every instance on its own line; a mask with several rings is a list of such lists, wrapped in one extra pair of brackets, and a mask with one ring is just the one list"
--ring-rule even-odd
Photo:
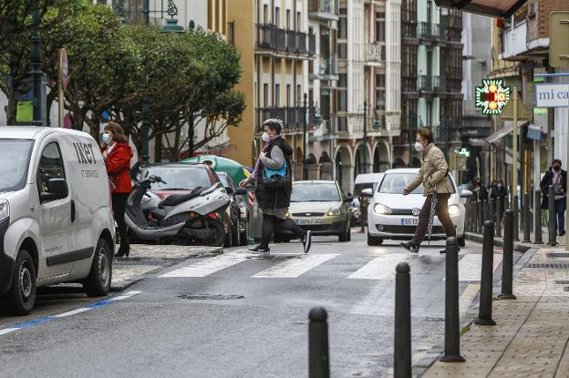
[(476, 324), (496, 325), (491, 318), (491, 289), (492, 289), (492, 261), (494, 257), (494, 223), (491, 220), (484, 222), (482, 236), (482, 277), (481, 296)]

